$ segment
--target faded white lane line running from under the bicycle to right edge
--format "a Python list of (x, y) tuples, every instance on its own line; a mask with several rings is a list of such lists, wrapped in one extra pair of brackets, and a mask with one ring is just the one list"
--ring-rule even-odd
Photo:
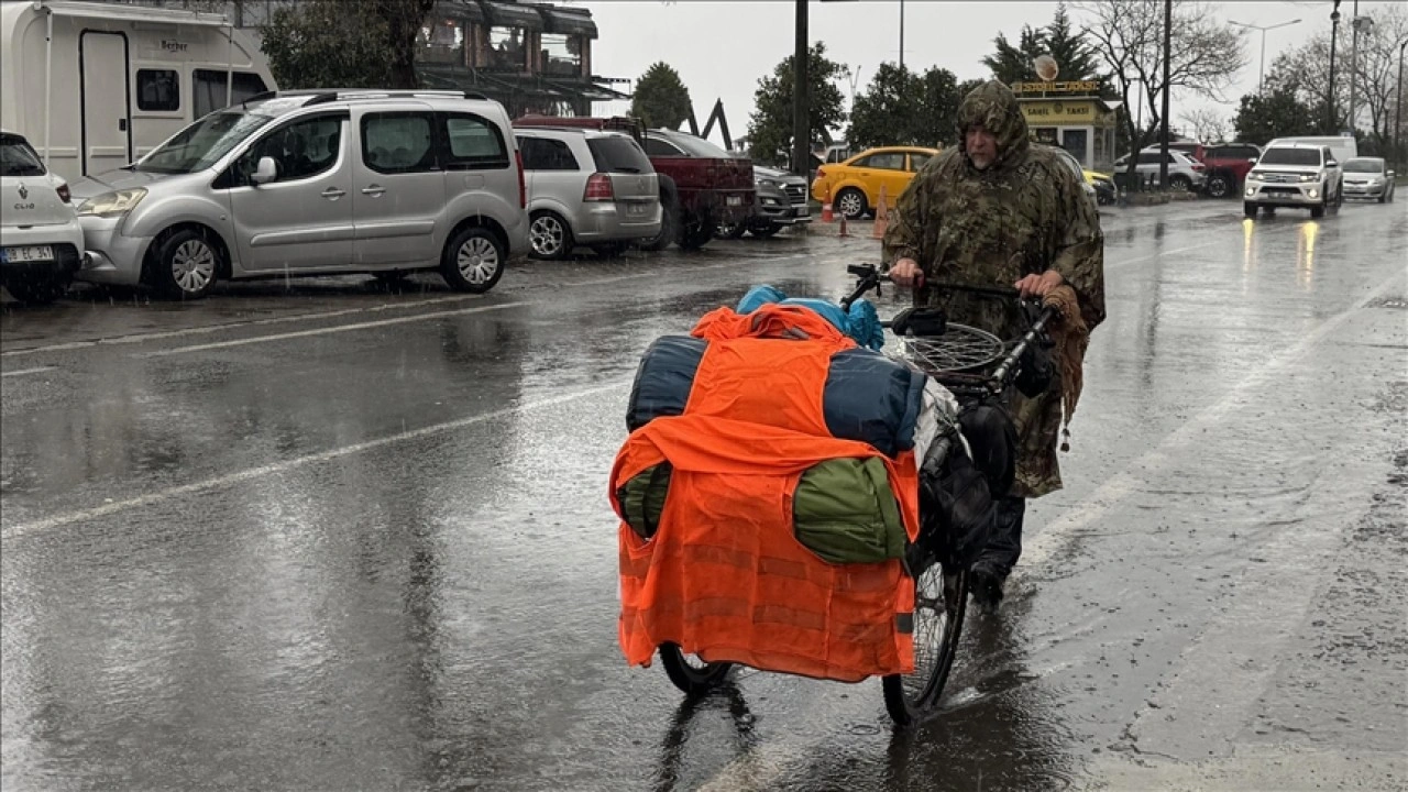
[[(1146, 452), (1136, 462), (1125, 465), (1125, 469), (1142, 469), (1146, 476), (1152, 475), (1155, 468), (1162, 466), (1169, 461), (1170, 451), (1191, 444), (1208, 427), (1222, 420), (1229, 410), (1236, 407), (1238, 397), (1242, 393), (1250, 388), (1267, 385), (1269, 379), (1278, 369), (1294, 362), (1314, 344), (1319, 342), (1329, 333), (1333, 333), (1339, 326), (1363, 310), (1369, 303), (1383, 297), (1394, 286), (1398, 286), (1405, 275), (1408, 275), (1408, 268), (1390, 276), (1387, 280), (1376, 286), (1373, 292), (1354, 302), (1354, 304), (1345, 311), (1325, 320), (1314, 330), (1304, 334), (1293, 347), (1271, 357), (1259, 369), (1253, 371), (1249, 376), (1232, 386), (1224, 399), (1190, 419), (1190, 421), (1180, 430), (1164, 437), (1159, 445)], [(1024, 541), (1022, 559), (1017, 569), (1012, 571), (1012, 576), (1021, 579), (1024, 572), (1032, 574), (1031, 571), (1049, 561), (1056, 551), (1071, 538), (1071, 534), (1110, 512), (1132, 493), (1138, 492), (1138, 488), (1143, 481), (1143, 478), (1126, 472), (1111, 478), (1094, 493), (1071, 507), (1071, 510), (1064, 516), (1050, 523), (1029, 541)], [(698, 789), (700, 792), (770, 789), (777, 785), (777, 779), (783, 774), (790, 772), (797, 762), (805, 761), (805, 745), (787, 738), (765, 743), (749, 751), (746, 755), (739, 757), (728, 765), (719, 768), (719, 771)]]

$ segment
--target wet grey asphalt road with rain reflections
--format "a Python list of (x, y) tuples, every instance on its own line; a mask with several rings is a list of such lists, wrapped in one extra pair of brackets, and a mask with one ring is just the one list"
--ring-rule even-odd
[(639, 352), (869, 238), (6, 303), (0, 785), (1401, 789), (1408, 204), (1239, 210), (1104, 214), (1067, 489), (915, 733), (615, 645)]

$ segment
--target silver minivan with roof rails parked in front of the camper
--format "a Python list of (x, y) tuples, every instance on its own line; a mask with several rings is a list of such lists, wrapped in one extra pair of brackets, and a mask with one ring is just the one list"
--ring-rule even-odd
[(417, 269), (486, 292), (528, 251), (508, 114), (460, 92), (259, 94), (73, 193), (79, 279), (184, 299), (218, 279)]

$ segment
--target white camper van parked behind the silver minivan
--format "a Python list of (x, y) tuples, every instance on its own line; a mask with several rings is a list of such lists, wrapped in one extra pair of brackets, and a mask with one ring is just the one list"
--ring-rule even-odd
[(69, 182), (121, 168), (193, 120), (276, 87), (263, 54), (222, 14), (0, 4), (0, 125)]

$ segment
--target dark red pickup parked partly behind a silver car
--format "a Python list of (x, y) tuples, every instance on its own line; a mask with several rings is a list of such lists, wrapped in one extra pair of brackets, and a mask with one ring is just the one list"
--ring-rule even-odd
[(753, 163), (704, 138), (673, 130), (646, 130), (639, 118), (617, 116), (522, 116), (515, 128), (574, 127), (610, 130), (635, 138), (659, 175), (660, 234), (641, 244), (658, 251), (677, 242), (697, 249), (714, 238), (719, 223), (742, 221), (753, 209)]

